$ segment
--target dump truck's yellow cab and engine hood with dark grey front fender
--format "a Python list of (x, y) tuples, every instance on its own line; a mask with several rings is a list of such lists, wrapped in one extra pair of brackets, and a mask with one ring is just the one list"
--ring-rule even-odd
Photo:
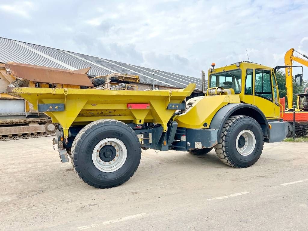
[(232, 115), (245, 115), (260, 124), (265, 142), (281, 141), (286, 123), (277, 123), (280, 104), (274, 69), (250, 62), (214, 67), (213, 63), (208, 72), (205, 96), (189, 99), (185, 111), (175, 116), (178, 126), (217, 130), (219, 140), (222, 122)]

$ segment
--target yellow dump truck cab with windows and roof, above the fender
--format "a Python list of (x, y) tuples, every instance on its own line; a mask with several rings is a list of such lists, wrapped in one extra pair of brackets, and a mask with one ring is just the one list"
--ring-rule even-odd
[(233, 89), (242, 103), (258, 107), (270, 120), (280, 116), (277, 86), (274, 69), (261, 64), (238, 62), (209, 69), (209, 88)]

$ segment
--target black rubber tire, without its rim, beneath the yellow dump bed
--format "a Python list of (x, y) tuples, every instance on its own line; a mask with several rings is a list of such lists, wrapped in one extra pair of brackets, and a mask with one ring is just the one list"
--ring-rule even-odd
[[(102, 172), (92, 161), (95, 145), (105, 138), (121, 140), (127, 149), (124, 165), (115, 172)], [(95, 188), (112, 188), (123, 184), (136, 172), (141, 159), (141, 147), (136, 132), (118, 120), (96, 120), (79, 131), (71, 148), (76, 174)]]

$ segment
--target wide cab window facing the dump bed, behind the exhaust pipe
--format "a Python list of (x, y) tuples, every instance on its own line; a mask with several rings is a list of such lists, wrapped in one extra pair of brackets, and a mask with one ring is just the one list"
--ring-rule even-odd
[(210, 75), (209, 87), (233, 88), (235, 93), (241, 92), (241, 70), (223, 71)]

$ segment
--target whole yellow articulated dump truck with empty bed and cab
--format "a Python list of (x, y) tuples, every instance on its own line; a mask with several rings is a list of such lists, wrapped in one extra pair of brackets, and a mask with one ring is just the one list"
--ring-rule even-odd
[(274, 69), (249, 62), (214, 67), (205, 96), (187, 102), (193, 83), (178, 90), (8, 87), (7, 92), (57, 123), (54, 143), (61, 160), (71, 161), (81, 180), (111, 188), (133, 176), (142, 149), (201, 155), (215, 148), (223, 163), (246, 168), (259, 159), (264, 142), (285, 138), (288, 125), (279, 119)]

